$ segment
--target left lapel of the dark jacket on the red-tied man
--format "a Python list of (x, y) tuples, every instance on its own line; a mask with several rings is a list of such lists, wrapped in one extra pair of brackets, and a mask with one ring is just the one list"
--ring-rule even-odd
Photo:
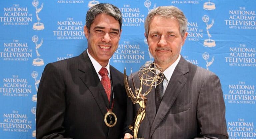
[(92, 93), (95, 101), (99, 106), (99, 109), (101, 110), (104, 116), (107, 113), (106, 106), (108, 105), (108, 100), (107, 100), (107, 95), (105, 93), (105, 90), (98, 78), (98, 74), (93, 68), (93, 65), (86, 51), (84, 51), (78, 57), (78, 59), (79, 59), (78, 70), (82, 72), (82, 74), (80, 74), (80, 78)]

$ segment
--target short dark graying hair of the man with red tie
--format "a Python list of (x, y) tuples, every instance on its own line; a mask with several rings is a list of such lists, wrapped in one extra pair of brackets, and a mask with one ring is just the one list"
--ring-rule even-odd
[(112, 4), (100, 3), (100, 4), (97, 4), (97, 5), (94, 5), (93, 7), (91, 7), (87, 11), (86, 27), (87, 27), (89, 32), (90, 32), (91, 24), (93, 23), (95, 17), (98, 14), (102, 14), (102, 13), (105, 13), (109, 16), (114, 17), (119, 22), (120, 30), (121, 30), (122, 22), (123, 22), (121, 11), (116, 6), (114, 6)]

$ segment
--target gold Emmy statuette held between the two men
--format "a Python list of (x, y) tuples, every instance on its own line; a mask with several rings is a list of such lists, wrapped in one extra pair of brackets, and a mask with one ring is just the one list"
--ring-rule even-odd
[[(132, 70), (131, 70), (132, 73)], [(137, 138), (138, 130), (140, 127), (140, 123), (143, 121), (146, 115), (146, 104), (147, 98), (146, 95), (151, 91), (152, 86), (158, 85), (163, 80), (163, 70), (156, 63), (148, 63), (141, 66), (139, 70), (139, 79), (140, 79), (140, 88), (135, 87), (135, 83), (132, 77), (133, 87), (135, 93), (132, 91), (128, 84), (128, 80), (126, 77), (126, 69), (124, 69), (124, 85), (126, 89), (126, 93), (128, 97), (131, 98), (133, 104), (138, 103), (140, 108), (137, 111), (136, 117), (133, 120), (133, 123), (129, 126), (129, 128), (134, 132), (133, 139), (142, 139)], [(149, 86), (149, 89), (145, 92), (142, 92), (142, 84)]]

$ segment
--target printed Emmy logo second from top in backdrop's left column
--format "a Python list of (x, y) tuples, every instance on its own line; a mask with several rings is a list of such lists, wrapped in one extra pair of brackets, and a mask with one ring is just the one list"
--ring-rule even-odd
[(38, 53), (38, 49), (41, 47), (41, 45), (43, 44), (43, 39), (41, 39), (41, 42), (40, 44), (37, 44), (38, 42), (38, 37), (36, 35), (34, 35), (32, 37), (32, 41), (35, 43), (36, 45), (36, 55), (37, 55), (37, 59), (34, 59), (33, 60), (33, 63), (32, 65), (34, 66), (43, 66), (44, 65), (44, 60), (43, 59), (40, 59), (40, 54)]

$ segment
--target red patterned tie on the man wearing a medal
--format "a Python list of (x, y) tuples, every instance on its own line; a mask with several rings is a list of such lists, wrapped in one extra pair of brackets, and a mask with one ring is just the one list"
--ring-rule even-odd
[(110, 79), (108, 77), (108, 70), (106, 68), (102, 67), (99, 71), (99, 74), (101, 75), (101, 83), (106, 91), (107, 96), (108, 96), (108, 102), (110, 102), (111, 83), (110, 83)]

